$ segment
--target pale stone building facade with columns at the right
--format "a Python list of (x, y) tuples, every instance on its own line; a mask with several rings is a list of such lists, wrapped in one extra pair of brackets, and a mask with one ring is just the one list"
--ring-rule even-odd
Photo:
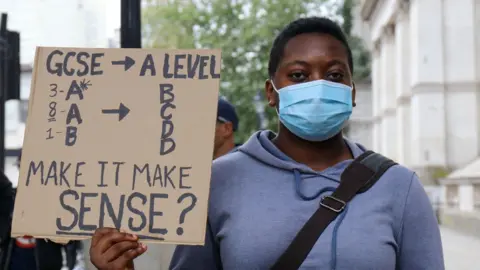
[(357, 4), (372, 50), (373, 150), (433, 185), (479, 155), (480, 1)]

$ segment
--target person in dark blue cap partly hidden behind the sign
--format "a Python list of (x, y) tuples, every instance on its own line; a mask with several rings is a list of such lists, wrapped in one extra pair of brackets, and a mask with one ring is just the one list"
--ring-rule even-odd
[(238, 129), (238, 116), (235, 107), (223, 98), (218, 99), (217, 125), (215, 126), (215, 143), (213, 159), (235, 151), (234, 133)]

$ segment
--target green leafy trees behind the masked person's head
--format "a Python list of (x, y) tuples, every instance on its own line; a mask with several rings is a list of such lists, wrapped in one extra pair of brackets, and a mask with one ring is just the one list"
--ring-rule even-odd
[[(222, 49), (221, 95), (237, 109), (240, 127), (236, 136), (243, 142), (258, 130), (253, 103), (268, 78), (267, 65), (271, 44), (289, 22), (307, 15), (338, 15), (337, 1), (331, 0), (148, 0), (143, 12), (146, 47), (220, 48)], [(167, 3), (165, 3), (167, 2)], [(346, 2), (349, 2), (346, 0)], [(350, 1), (351, 2), (351, 1)], [(347, 7), (348, 8), (348, 7)], [(351, 29), (351, 8), (343, 16)], [(348, 17), (349, 16), (349, 17)], [(350, 18), (350, 19), (349, 19)], [(351, 30), (348, 30), (349, 32)], [(365, 76), (368, 54), (357, 52), (361, 41), (350, 38), (355, 68)], [(358, 45), (360, 44), (360, 45)], [(368, 71), (367, 71), (368, 70)], [(267, 106), (268, 128), (276, 129), (276, 112)]]

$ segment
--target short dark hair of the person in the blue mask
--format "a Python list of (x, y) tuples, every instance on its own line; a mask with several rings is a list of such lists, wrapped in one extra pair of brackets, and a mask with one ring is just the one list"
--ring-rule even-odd
[(347, 38), (343, 33), (342, 28), (328, 18), (309, 17), (301, 18), (291, 22), (280, 32), (280, 34), (278, 34), (273, 41), (272, 49), (270, 50), (270, 60), (268, 61), (268, 75), (270, 78), (273, 77), (277, 71), (288, 41), (298, 35), (307, 33), (328, 34), (342, 42), (347, 50), (350, 72), (353, 74), (352, 51), (350, 50), (350, 46), (348, 45)]

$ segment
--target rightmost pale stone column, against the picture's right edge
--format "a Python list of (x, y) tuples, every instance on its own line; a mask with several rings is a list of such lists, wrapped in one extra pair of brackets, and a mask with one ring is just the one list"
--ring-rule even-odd
[(479, 81), (475, 57), (475, 2), (449, 0), (443, 3), (444, 92), (446, 165), (458, 168), (478, 156), (480, 122), (477, 101)]

